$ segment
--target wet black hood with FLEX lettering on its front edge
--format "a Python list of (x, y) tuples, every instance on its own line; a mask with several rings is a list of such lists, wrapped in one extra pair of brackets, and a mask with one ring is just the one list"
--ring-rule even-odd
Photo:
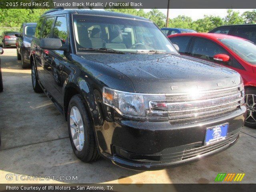
[(181, 55), (82, 54), (126, 75), (139, 93), (180, 93), (238, 86), (240, 74), (229, 68)]

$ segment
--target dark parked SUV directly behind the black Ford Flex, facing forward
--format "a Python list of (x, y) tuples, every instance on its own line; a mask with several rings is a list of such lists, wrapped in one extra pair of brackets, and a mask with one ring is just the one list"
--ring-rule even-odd
[(17, 59), (21, 60), (22, 68), (30, 68), (30, 45), (36, 31), (36, 23), (23, 23), (17, 37)]

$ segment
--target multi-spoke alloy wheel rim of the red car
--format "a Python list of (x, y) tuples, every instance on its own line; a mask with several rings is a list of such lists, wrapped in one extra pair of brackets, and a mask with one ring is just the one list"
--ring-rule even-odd
[(244, 96), (247, 106), (247, 118), (246, 123), (256, 124), (256, 95), (246, 94)]

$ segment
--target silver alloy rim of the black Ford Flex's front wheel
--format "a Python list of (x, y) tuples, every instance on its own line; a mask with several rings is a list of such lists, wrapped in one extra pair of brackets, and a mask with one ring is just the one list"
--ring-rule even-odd
[(84, 124), (76, 106), (73, 106), (70, 111), (70, 132), (74, 146), (78, 151), (82, 151), (84, 147)]

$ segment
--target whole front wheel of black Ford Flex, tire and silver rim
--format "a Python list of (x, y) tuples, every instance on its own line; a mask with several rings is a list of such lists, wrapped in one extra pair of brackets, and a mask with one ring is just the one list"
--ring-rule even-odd
[[(76, 110), (76, 113), (74, 113), (74, 110)], [(68, 134), (74, 154), (80, 160), (93, 162), (100, 158), (94, 138), (92, 121), (86, 104), (79, 94), (73, 96), (68, 105)]]

